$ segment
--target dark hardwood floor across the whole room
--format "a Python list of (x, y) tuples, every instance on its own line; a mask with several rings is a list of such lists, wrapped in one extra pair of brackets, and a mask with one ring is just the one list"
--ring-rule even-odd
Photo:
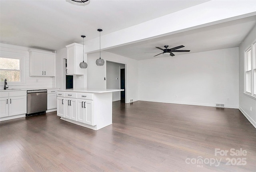
[(0, 171), (255, 172), (256, 129), (238, 109), (117, 101), (98, 131), (56, 112), (0, 122)]

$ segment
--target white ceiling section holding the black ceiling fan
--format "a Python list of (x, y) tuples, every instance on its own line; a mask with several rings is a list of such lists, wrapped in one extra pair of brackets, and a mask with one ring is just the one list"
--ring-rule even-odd
[(239, 46), (239, 42), (244, 40), (255, 24), (256, 16), (251, 16), (186, 32), (170, 34), (168, 36), (154, 38), (134, 44), (119, 46), (105, 51), (136, 60), (144, 60), (166, 56), (160, 54), (154, 57), (154, 55), (162, 52), (155, 48), (156, 46), (164, 48), (164, 45), (168, 45), (168, 48), (172, 48), (184, 45), (185, 47), (180, 48), (179, 50), (190, 50), (190, 52), (176, 52), (174, 53), (175, 55), (233, 48)]

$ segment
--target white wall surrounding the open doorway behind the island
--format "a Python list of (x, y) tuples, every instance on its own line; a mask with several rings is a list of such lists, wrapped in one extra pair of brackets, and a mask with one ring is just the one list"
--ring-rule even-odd
[[(97, 66), (96, 59), (99, 58), (99, 53), (88, 54), (87, 56), (87, 86), (88, 88), (106, 88), (106, 64), (104, 66)], [(110, 52), (101, 52), (101, 58), (106, 61), (125, 64), (126, 75), (126, 103), (138, 100), (138, 61), (112, 54)]]

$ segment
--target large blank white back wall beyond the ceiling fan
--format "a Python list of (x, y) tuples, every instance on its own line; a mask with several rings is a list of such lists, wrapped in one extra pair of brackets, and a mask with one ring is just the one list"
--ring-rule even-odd
[(138, 72), (139, 100), (238, 108), (238, 48), (141, 60)]

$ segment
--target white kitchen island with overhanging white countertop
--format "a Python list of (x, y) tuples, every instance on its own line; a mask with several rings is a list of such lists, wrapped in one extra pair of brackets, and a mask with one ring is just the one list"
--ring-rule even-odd
[(112, 124), (112, 92), (104, 90), (59, 90), (57, 115), (60, 119), (99, 130)]

